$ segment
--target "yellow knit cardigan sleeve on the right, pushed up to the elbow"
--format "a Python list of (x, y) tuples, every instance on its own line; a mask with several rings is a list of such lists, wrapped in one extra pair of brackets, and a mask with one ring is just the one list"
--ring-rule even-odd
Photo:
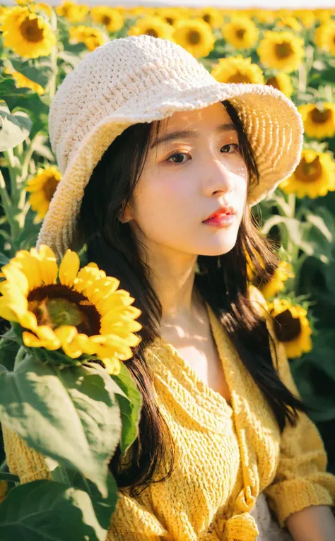
[[(266, 300), (257, 290), (259, 302), (266, 307)], [(277, 366), (281, 381), (295, 396), (299, 396), (283, 343), (278, 342), (274, 326), (266, 310), (266, 326), (274, 339), (271, 355)], [(274, 481), (264, 491), (269, 505), (275, 511), (278, 522), (284, 525), (292, 513), (315, 505), (335, 504), (335, 476), (326, 471), (327, 454), (315, 424), (303, 412), (299, 412), (298, 422), (292, 427), (288, 422), (281, 434), (280, 458)]]

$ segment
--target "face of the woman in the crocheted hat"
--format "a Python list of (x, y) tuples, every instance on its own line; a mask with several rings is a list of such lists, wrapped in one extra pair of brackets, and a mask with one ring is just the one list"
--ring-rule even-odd
[[(237, 131), (216, 103), (162, 122), (124, 217), (149, 247), (218, 256), (235, 245), (246, 198), (247, 167)], [(223, 205), (235, 208), (231, 224), (205, 224)]]

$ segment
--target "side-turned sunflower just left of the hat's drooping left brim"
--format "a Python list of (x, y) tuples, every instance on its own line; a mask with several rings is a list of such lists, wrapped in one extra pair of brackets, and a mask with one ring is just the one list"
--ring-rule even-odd
[(28, 180), (26, 190), (31, 194), (29, 203), (40, 220), (45, 217), (60, 180), (61, 172), (54, 165), (47, 167), (47, 169), (40, 167), (35, 177)]

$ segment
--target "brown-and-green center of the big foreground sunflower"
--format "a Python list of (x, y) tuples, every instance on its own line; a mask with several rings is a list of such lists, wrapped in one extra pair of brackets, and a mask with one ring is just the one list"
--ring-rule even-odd
[(100, 332), (100, 314), (87, 297), (61, 284), (37, 287), (28, 295), (28, 309), (38, 325), (55, 329), (71, 325), (88, 336)]

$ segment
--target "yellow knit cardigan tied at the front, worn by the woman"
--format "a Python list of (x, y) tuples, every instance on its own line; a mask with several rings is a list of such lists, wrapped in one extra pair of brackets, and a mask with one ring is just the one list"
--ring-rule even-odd
[[(285, 349), (264, 311), (265, 299), (256, 288), (251, 291), (275, 339), (278, 374), (298, 394)], [(305, 507), (334, 505), (335, 477), (326, 472), (327, 456), (315, 424), (300, 414), (295, 427), (288, 424), (279, 432), (264, 396), (207, 309), (231, 405), (198, 378), (172, 345), (155, 340), (146, 359), (155, 398), (175, 441), (175, 470), (139, 497), (119, 492), (107, 541), (255, 541), (258, 529), (249, 511), (260, 492), (280, 525)], [(21, 482), (50, 477), (43, 456), (3, 429), (11, 472)]]

